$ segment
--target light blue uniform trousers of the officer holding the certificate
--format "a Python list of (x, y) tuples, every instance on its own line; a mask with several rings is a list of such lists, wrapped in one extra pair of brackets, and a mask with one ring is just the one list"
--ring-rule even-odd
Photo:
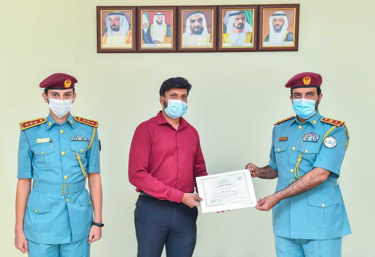
[(341, 257), (342, 237), (327, 240), (275, 236), (277, 257)]

